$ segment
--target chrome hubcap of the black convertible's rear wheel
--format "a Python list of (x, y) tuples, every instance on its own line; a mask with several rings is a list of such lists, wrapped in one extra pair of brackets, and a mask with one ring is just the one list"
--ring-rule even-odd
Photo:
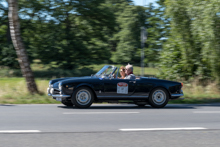
[(166, 94), (163, 90), (156, 90), (153, 93), (153, 101), (157, 105), (162, 105), (166, 101)]

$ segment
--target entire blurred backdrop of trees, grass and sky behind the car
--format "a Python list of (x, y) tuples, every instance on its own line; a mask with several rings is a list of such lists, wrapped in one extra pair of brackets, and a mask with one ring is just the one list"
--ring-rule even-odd
[[(44, 99), (36, 103), (50, 102), (45, 91), (51, 78), (88, 76), (105, 64), (127, 63), (140, 75), (141, 27), (148, 34), (145, 76), (183, 82), (193, 102), (219, 101), (219, 0), (19, 0), (18, 15), (41, 91), (36, 99)], [(35, 102), (21, 88), (17, 60), (8, 2), (0, 0), (0, 103)]]

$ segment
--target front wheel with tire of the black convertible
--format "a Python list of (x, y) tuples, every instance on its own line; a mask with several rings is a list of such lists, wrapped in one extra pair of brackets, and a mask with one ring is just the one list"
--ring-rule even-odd
[(77, 108), (88, 108), (94, 101), (94, 94), (88, 87), (79, 87), (73, 93), (71, 100)]

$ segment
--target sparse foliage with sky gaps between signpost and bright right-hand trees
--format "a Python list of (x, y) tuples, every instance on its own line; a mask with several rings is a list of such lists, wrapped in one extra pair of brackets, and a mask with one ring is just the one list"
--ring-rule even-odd
[(164, 0), (157, 1), (158, 7), (149, 5), (146, 9), (147, 41), (145, 47), (145, 63), (157, 63), (163, 44), (169, 34), (170, 22), (164, 14)]

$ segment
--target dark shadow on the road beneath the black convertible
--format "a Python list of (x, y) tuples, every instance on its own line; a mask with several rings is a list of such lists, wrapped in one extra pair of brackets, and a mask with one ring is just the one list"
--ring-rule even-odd
[[(75, 106), (73, 107), (67, 107), (67, 106), (57, 106), (58, 108), (62, 109), (82, 109), (82, 108), (76, 108)], [(153, 108), (149, 105), (139, 107), (136, 105), (92, 105), (89, 108), (86, 109), (196, 109), (192, 105), (167, 105), (164, 108)]]

